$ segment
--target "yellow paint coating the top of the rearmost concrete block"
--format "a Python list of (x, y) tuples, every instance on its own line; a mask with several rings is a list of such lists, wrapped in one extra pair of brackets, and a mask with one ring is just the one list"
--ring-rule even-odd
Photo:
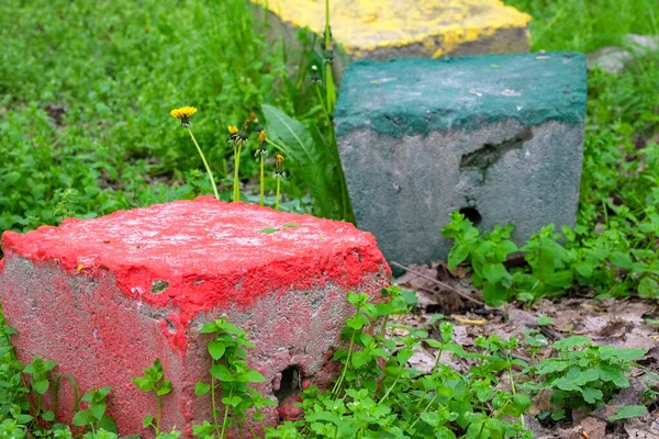
[[(252, 1), (295, 27), (324, 31), (324, 0)], [(334, 37), (351, 57), (415, 43), (438, 57), (501, 30), (525, 30), (530, 21), (500, 0), (331, 0), (330, 10)]]

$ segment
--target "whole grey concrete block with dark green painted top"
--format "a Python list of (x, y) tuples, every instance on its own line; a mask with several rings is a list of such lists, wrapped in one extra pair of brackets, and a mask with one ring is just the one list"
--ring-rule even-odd
[(576, 53), (353, 64), (335, 127), (357, 225), (401, 263), (445, 259), (457, 210), (517, 243), (572, 225), (585, 92)]

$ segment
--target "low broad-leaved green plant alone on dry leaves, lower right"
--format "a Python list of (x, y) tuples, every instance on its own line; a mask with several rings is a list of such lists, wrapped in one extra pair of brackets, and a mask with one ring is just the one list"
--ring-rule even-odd
[(645, 349), (616, 349), (596, 346), (588, 337), (572, 336), (549, 346), (555, 357), (541, 359), (525, 373), (535, 375), (537, 383), (525, 383), (530, 392), (550, 391), (557, 409), (540, 414), (560, 420), (572, 408), (597, 408), (622, 389), (629, 386), (627, 374), (634, 361), (644, 357)]

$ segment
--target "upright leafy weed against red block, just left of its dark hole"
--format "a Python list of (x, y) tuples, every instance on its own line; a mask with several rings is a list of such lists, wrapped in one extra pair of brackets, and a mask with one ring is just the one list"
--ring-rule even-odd
[[(263, 407), (276, 404), (249, 387), (250, 383), (261, 383), (265, 378), (258, 371), (247, 367), (245, 348), (254, 347), (254, 344), (247, 339), (247, 334), (226, 322), (225, 316), (204, 324), (200, 333), (213, 336), (208, 345), (211, 356), (211, 382), (210, 384), (198, 382), (194, 394), (199, 396), (211, 392), (213, 424), (203, 421), (193, 426), (194, 435), (213, 437), (215, 434), (217, 438), (223, 439), (232, 426), (242, 427), (250, 412), (254, 419), (263, 423)], [(221, 390), (221, 402), (224, 405), (222, 415), (217, 401), (219, 390)], [(220, 416), (222, 416), (221, 421)], [(246, 424), (248, 428), (252, 428), (249, 423)], [(263, 424), (261, 428), (265, 429)], [(254, 435), (254, 431), (252, 434)]]

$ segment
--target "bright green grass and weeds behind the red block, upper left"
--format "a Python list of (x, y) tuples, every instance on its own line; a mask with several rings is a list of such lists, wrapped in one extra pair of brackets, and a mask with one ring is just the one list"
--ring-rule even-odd
[(56, 223), (68, 188), (78, 216), (193, 196), (183, 170), (202, 164), (174, 108), (199, 108), (220, 180), (226, 126), (263, 102), (292, 108), (243, 0), (9, 0), (0, 36), (0, 230)]

